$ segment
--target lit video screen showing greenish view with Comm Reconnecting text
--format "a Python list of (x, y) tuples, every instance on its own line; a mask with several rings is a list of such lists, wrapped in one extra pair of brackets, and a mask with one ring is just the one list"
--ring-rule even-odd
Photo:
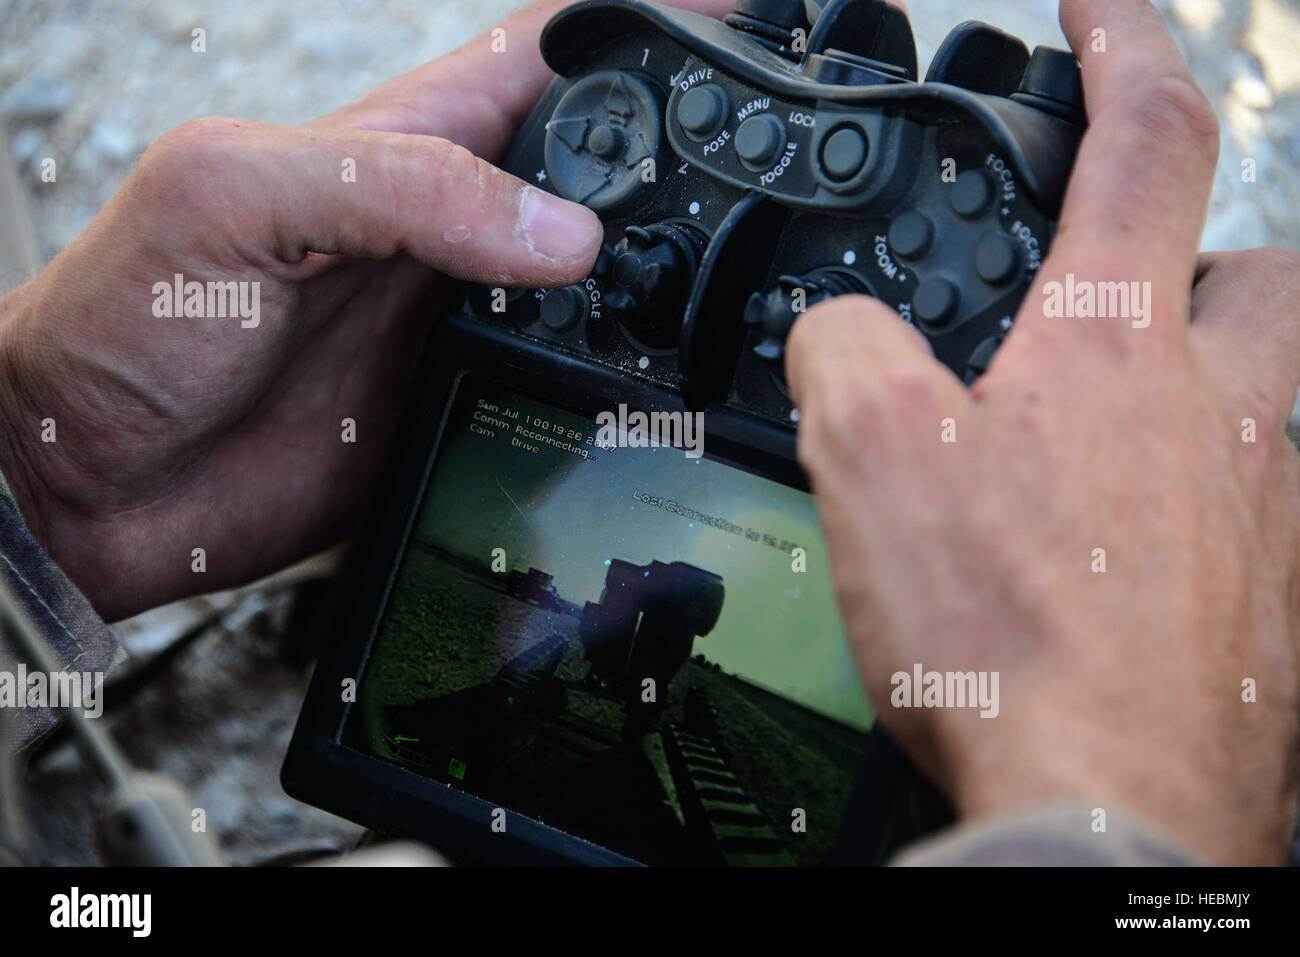
[(343, 742), (507, 830), (823, 862), (874, 716), (811, 495), (607, 437), (462, 380)]

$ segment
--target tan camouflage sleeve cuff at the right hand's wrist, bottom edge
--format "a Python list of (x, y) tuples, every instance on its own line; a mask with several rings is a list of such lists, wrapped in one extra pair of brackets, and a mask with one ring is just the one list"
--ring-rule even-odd
[(889, 863), (900, 867), (1191, 867), (1201, 862), (1127, 811), (1061, 804), (958, 824), (905, 848)]

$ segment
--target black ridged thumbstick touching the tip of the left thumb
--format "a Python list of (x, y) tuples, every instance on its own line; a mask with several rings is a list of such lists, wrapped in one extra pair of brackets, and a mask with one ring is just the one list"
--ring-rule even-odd
[(686, 222), (628, 226), (616, 246), (606, 246), (597, 270), (604, 280), (604, 304), (636, 338), (672, 348), (708, 237)]

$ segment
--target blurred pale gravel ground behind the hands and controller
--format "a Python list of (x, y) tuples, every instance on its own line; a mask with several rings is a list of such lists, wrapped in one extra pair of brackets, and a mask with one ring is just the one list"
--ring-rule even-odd
[[(72, 241), (168, 129), (204, 114), (303, 122), (447, 52), (516, 5), (0, 0), (0, 125), (40, 256), (48, 261)], [(1204, 248), (1300, 248), (1300, 0), (1158, 5), (1223, 121)], [(1065, 46), (1056, 0), (910, 0), (910, 7), (923, 66), (948, 30), (968, 18), (996, 23), (1031, 46)], [(203, 55), (190, 49), (195, 27), (207, 31)], [(40, 181), (44, 157), (57, 163), (55, 183)], [(1254, 160), (1253, 183), (1243, 182), (1247, 159)], [(12, 278), (0, 282), (13, 285)], [(122, 632), (136, 658), (147, 659), (194, 615), (192, 602), (173, 606), (127, 623)], [(218, 631), (188, 646), (160, 689), (142, 694), (118, 727), (131, 741), (133, 758), (168, 770), (213, 809), (212, 827), (231, 861), (347, 846), (356, 839), (354, 826), (280, 791), (278, 765), (303, 674), (254, 632)], [(44, 755), (31, 785), (40, 796), (32, 813), (43, 859), (92, 862), (84, 824), (94, 791), (66, 745)]]

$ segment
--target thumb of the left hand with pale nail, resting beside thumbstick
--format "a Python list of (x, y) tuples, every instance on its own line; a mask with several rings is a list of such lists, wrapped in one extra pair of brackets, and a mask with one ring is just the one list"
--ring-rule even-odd
[(438, 137), (195, 120), (146, 153), (136, 181), (164, 207), (179, 185), (218, 204), (212, 222), (261, 260), (406, 252), (462, 280), (549, 286), (586, 276), (602, 239), (590, 209)]

